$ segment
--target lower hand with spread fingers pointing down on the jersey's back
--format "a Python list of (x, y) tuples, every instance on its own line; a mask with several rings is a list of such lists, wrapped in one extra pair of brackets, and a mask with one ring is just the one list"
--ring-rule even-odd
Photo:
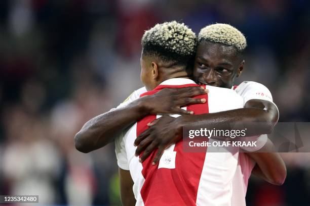
[(161, 159), (164, 150), (182, 138), (183, 127), (179, 120), (180, 117), (173, 118), (165, 115), (147, 125), (149, 128), (142, 132), (134, 142), (135, 145), (138, 145), (136, 156), (139, 156), (144, 150), (143, 155), (139, 159), (140, 162), (143, 162), (153, 150), (158, 148), (152, 163), (156, 165)]

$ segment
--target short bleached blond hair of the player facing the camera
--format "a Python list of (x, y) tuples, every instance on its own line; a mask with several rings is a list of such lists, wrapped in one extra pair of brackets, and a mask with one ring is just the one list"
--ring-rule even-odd
[(198, 41), (201, 42), (202, 40), (234, 46), (238, 52), (242, 52), (247, 46), (245, 36), (229, 24), (211, 24), (206, 26), (200, 30), (198, 35)]

